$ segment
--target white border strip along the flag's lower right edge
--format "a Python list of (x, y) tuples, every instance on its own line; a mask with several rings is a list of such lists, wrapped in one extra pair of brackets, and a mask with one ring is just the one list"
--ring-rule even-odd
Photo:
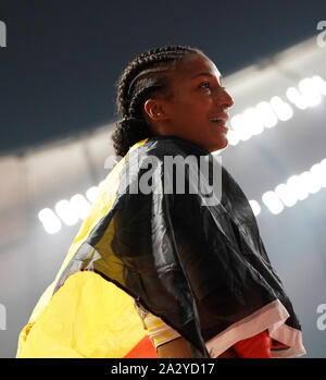
[(288, 318), (287, 309), (279, 299), (275, 299), (212, 338), (205, 343), (206, 348), (211, 357), (217, 357), (235, 343), (268, 329), (272, 339), (289, 346), (287, 350), (272, 350), (272, 358), (302, 356), (306, 353), (302, 333), (285, 324)]

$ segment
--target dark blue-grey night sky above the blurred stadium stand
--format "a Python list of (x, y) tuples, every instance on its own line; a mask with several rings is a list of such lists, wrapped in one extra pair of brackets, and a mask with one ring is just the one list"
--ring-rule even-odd
[(0, 154), (116, 118), (114, 83), (138, 53), (202, 49), (226, 75), (317, 35), (326, 1), (0, 0)]

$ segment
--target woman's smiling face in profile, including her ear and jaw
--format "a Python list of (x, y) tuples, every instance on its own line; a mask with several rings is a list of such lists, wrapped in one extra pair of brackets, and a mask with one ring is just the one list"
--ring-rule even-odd
[(228, 109), (234, 101), (222, 87), (215, 64), (203, 54), (185, 58), (172, 72), (170, 89), (170, 99), (145, 105), (153, 133), (178, 136), (209, 151), (225, 148)]

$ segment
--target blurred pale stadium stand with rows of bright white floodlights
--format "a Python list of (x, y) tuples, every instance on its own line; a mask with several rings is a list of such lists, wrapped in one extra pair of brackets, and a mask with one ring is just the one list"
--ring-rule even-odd
[[(310, 38), (225, 77), (234, 97), (223, 164), (251, 200), (271, 261), (326, 357), (326, 60)], [(54, 279), (113, 156), (108, 125), (0, 157), (0, 357)], [(325, 311), (326, 312), (326, 309)]]

